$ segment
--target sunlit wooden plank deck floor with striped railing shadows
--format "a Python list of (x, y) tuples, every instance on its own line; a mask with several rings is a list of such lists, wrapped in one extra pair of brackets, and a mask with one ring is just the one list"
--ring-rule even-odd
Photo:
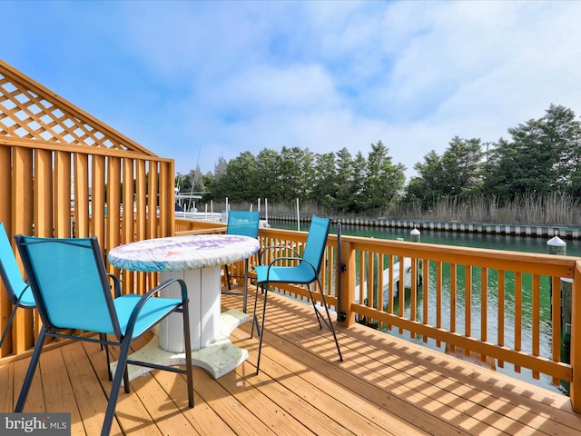
[[(339, 362), (309, 306), (274, 294), (269, 302), (260, 375), (249, 322), (231, 335), (247, 362), (218, 380), (195, 368), (193, 409), (182, 375), (152, 372), (120, 394), (112, 434), (581, 435), (565, 396), (359, 325), (339, 328)], [(222, 305), (241, 308), (241, 298)], [(28, 362), (0, 367), (1, 411), (13, 410)], [(45, 352), (25, 411), (70, 411), (72, 434), (99, 434), (105, 366), (95, 344)]]

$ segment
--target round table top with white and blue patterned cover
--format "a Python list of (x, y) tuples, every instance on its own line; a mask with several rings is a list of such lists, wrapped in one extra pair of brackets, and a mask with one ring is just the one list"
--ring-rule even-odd
[(122, 270), (184, 271), (239, 262), (258, 249), (258, 240), (249, 236), (195, 234), (119, 245), (109, 252), (108, 260)]

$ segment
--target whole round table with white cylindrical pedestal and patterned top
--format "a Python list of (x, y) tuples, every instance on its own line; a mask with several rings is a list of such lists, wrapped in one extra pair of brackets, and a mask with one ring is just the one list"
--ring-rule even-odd
[[(188, 287), (192, 363), (214, 378), (231, 372), (248, 358), (248, 352), (230, 341), (231, 332), (250, 319), (231, 309), (221, 313), (222, 265), (248, 259), (258, 252), (259, 242), (234, 234), (197, 234), (127, 243), (114, 248), (108, 261), (116, 268), (160, 272), (160, 280), (182, 279)], [(180, 286), (171, 285), (162, 296), (181, 298)], [(130, 357), (163, 365), (185, 363), (181, 313), (163, 320), (153, 340)], [(112, 371), (116, 369), (112, 363)], [(152, 371), (130, 365), (129, 378)]]

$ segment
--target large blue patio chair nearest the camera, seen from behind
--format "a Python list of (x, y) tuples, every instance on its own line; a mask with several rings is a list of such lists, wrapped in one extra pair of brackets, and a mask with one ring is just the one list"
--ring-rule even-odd
[[(129, 392), (128, 363), (185, 373), (189, 406), (193, 407), (192, 345), (185, 282), (171, 279), (162, 282), (145, 295), (128, 293), (113, 298), (110, 276), (105, 272), (103, 256), (96, 238), (34, 238), (18, 234), (15, 241), (43, 321), (16, 403), (16, 412), (23, 411), (25, 407), (34, 371), (47, 336), (120, 347), (102, 435), (108, 435), (111, 431), (122, 381), (125, 392)], [(119, 295), (119, 280), (115, 277), (113, 283), (115, 295)], [(170, 285), (181, 286), (182, 298), (152, 298)], [(130, 360), (129, 353), (133, 340), (150, 331), (154, 325), (173, 312), (182, 312), (183, 316), (185, 369)], [(71, 330), (98, 332), (99, 339), (94, 336), (76, 335), (71, 333)]]

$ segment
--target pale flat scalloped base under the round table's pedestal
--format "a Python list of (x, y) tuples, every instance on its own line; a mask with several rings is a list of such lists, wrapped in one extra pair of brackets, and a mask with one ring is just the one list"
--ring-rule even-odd
[[(222, 377), (234, 370), (241, 362), (248, 358), (248, 351), (241, 349), (230, 341), (233, 330), (244, 322), (250, 321), (249, 316), (236, 309), (221, 313), (221, 332), (214, 342), (192, 352), (192, 365), (199, 366), (210, 372), (214, 379)], [(129, 356), (130, 360), (140, 362), (153, 362), (158, 365), (184, 365), (184, 352), (167, 352), (159, 345), (159, 336), (155, 334), (153, 339), (138, 352)], [(117, 369), (117, 362), (111, 363), (113, 376)], [(144, 366), (128, 365), (129, 380), (151, 372), (151, 368)]]

